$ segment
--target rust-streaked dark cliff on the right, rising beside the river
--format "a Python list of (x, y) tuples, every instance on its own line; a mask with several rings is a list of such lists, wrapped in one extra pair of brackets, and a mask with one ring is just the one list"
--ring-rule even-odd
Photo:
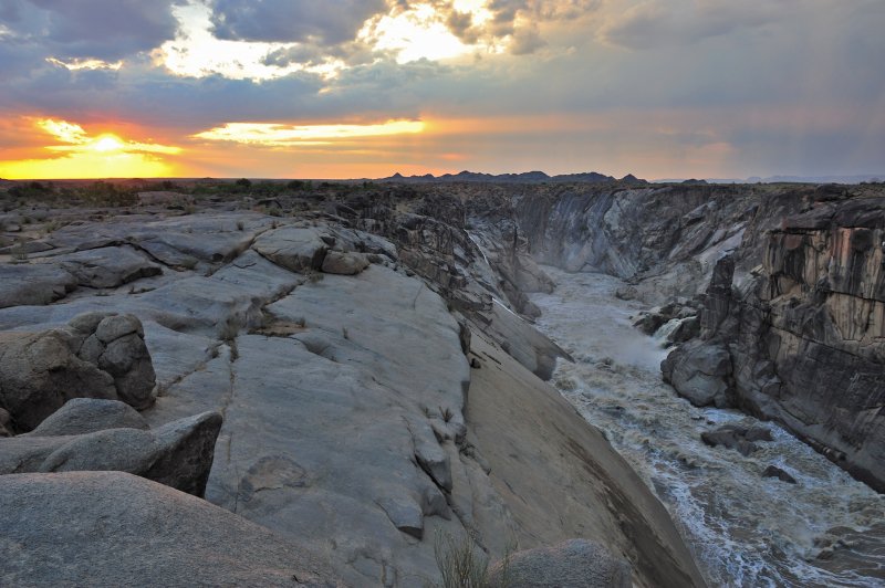
[(748, 280), (735, 285), (733, 260), (719, 262), (700, 339), (662, 368), (704, 403), (685, 376), (706, 374), (698, 358), (726, 349), (715, 386), (727, 403), (782, 422), (885, 492), (885, 198), (804, 208), (764, 235)]

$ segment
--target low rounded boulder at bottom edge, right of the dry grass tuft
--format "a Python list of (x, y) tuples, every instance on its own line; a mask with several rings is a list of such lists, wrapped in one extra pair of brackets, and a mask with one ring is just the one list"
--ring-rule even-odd
[(629, 564), (595, 542), (570, 539), (512, 554), (489, 570), (490, 586), (629, 588)]

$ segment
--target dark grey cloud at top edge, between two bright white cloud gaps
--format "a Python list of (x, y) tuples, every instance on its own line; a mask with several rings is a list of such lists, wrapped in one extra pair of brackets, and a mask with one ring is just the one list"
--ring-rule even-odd
[(384, 0), (211, 0), (214, 32), (233, 41), (352, 41), (363, 23), (387, 11)]

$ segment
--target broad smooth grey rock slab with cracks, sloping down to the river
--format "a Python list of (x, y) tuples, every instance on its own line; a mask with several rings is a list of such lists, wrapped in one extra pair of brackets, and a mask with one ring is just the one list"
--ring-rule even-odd
[[(439, 532), (469, 533), (492, 558), (511, 537), (531, 548), (585, 536), (628, 560), (637, 586), (701, 585), (660, 503), (535, 376), (563, 351), (519, 316), (518, 288), (546, 287), (528, 251), (492, 246), (487, 259), (459, 198), (345, 196), (299, 219), (212, 212), (53, 234), (54, 256), (127, 246), (164, 272), (101, 297), (82, 288), (50, 306), (2, 309), (0, 328), (76, 330), (85, 338), (71, 353), (85, 363), (76, 354), (93, 335), (106, 346), (139, 332), (72, 318), (104, 307), (137, 316), (159, 382), (143, 412), (153, 429), (51, 435), (83, 424), (72, 407), (42, 433), (7, 440), (3, 453), (21, 449), (11, 470), (117, 468), (171, 483), (175, 471), (145, 466), (157, 435), (218, 412), (207, 498), (291, 540), (310, 538), (350, 585), (437, 580)], [(330, 255), (369, 264), (329, 273)], [(25, 336), (18, 330), (8, 335)], [(82, 413), (108, 426), (132, 417)], [(170, 470), (190, 463), (184, 447), (169, 448)]]

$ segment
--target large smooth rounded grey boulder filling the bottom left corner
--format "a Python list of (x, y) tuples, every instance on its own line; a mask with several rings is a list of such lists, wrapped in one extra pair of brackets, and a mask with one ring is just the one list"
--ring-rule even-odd
[(0, 476), (0, 528), (2, 586), (337, 585), (299, 543), (122, 472)]

